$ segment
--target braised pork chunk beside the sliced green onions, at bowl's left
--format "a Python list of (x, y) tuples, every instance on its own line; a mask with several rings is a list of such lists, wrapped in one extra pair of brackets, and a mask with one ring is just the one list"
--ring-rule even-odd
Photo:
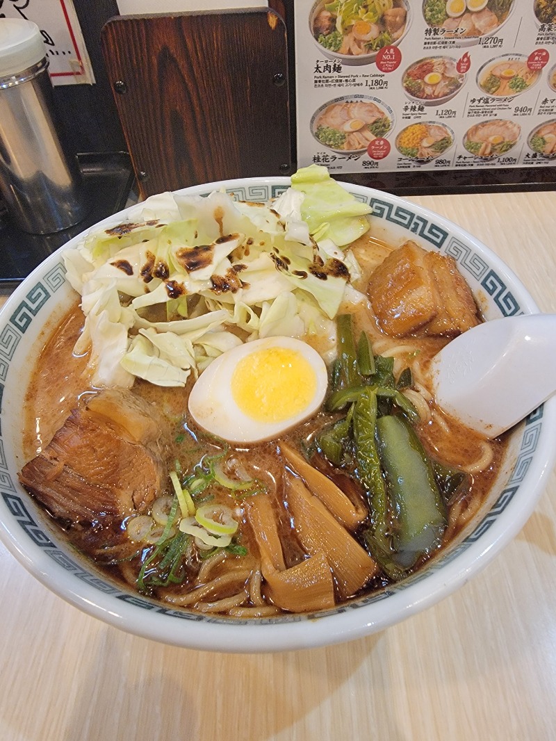
[(19, 480), (70, 522), (144, 511), (162, 492), (160, 429), (156, 408), (139, 396), (99, 391), (72, 411)]

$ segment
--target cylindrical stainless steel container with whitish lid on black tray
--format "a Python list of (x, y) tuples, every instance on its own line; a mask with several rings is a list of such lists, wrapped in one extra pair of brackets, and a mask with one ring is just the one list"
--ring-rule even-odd
[(76, 157), (64, 147), (39, 27), (0, 19), (0, 194), (16, 225), (51, 234), (87, 213)]

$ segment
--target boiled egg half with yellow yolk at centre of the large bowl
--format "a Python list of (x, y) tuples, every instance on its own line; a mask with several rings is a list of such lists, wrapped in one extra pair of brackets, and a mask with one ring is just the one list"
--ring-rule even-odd
[(228, 442), (263, 442), (317, 412), (327, 383), (317, 350), (299, 339), (265, 337), (213, 360), (191, 390), (189, 412)]

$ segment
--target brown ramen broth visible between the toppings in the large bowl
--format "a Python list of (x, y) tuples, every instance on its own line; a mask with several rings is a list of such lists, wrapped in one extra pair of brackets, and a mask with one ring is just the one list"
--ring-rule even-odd
[[(368, 276), (380, 263), (389, 248), (376, 245), (371, 238), (363, 236), (353, 245), (354, 253), (363, 269), (363, 276), (356, 286), (365, 290)], [(70, 290), (68, 289), (68, 293)], [(87, 356), (77, 357), (73, 346), (82, 330), (83, 317), (78, 305), (78, 298), (73, 294), (73, 306), (65, 316), (53, 317), (49, 328), (39, 337), (37, 346), (43, 349), (36, 357), (30, 371), (30, 381), (24, 397), (24, 433), (22, 448), (24, 462), (27, 462), (50, 442), (56, 430), (73, 408), (83, 405), (95, 390), (85, 372)], [(354, 310), (350, 307), (350, 310)], [(438, 337), (408, 337), (393, 339), (386, 336), (377, 326), (377, 319), (365, 305), (359, 305), (353, 316), (354, 336), (365, 331), (371, 341), (374, 353), (394, 354), (394, 373), (399, 374), (406, 366), (414, 366), (419, 377), (426, 362), (446, 343)], [(416, 363), (416, 359), (418, 362)], [(419, 370), (419, 368), (421, 370)], [(221, 465), (225, 476), (241, 482), (245, 479), (257, 480), (259, 491), (242, 496), (242, 491), (231, 491), (225, 486), (214, 485), (211, 488), (212, 505), (228, 508), (239, 523), (234, 536), (235, 550), (225, 551), (208, 548), (186, 548), (179, 567), (176, 568), (176, 582), (168, 585), (156, 585), (145, 581), (148, 588), (143, 590), (146, 596), (170, 602), (171, 605), (192, 608), (199, 611), (227, 614), (231, 617), (268, 617), (288, 611), (311, 611), (312, 605), (294, 605), (278, 608), (271, 595), (266, 580), (262, 578), (261, 540), (256, 527), (259, 519), (271, 516), (276, 523), (277, 534), (282, 545), (283, 567), (293, 569), (307, 562), (305, 541), (311, 535), (299, 536), (292, 530), (291, 506), (285, 494), (284, 480), (292, 476), (295, 465), (285, 461), (282, 447), (291, 448), (302, 455), (303, 446), (310, 443), (322, 426), (331, 420), (338, 419), (338, 413), (320, 411), (291, 431), (285, 433), (279, 441), (271, 440), (257, 445), (245, 445), (235, 448), (218, 439), (207, 436), (200, 430), (187, 413), (187, 399), (193, 381), (190, 379), (185, 388), (164, 388), (137, 379), (133, 393), (142, 397), (162, 419), (157, 445), (165, 465), (165, 491), (170, 498), (173, 494), (168, 481), (168, 471), (179, 462), (181, 471), (191, 471), (203, 461), (215, 460)], [(425, 403), (425, 406), (426, 403)], [(449, 522), (443, 540), (443, 548), (459, 542), (469, 532), (480, 516), (482, 506), (488, 506), (499, 496), (500, 485), (512, 466), (512, 453), (509, 451), (511, 436), (485, 443), (453, 420), (446, 420), (439, 414), (432, 414), (417, 425), (424, 448), (431, 457), (443, 463), (459, 468), (467, 468), (470, 488), (464, 488), (453, 502), (449, 503)], [(225, 456), (222, 454), (225, 453)], [(483, 470), (477, 469), (477, 462), (483, 458)], [(222, 463), (219, 463), (222, 461)], [(368, 500), (363, 488), (342, 471), (334, 468), (322, 456), (315, 454), (311, 464), (345, 492), (348, 499), (358, 511), (368, 511)], [(122, 460), (122, 471), (126, 471), (128, 462)], [(264, 502), (262, 501), (264, 500)], [(257, 510), (257, 501), (269, 507)], [(202, 505), (202, 496), (196, 505)], [(299, 505), (298, 505), (299, 506)], [(150, 508), (149, 508), (150, 511)], [(130, 513), (121, 518), (107, 517), (102, 511), (97, 513), (93, 522), (71, 524), (70, 518), (57, 518), (59, 525), (56, 538), (67, 538), (87, 559), (90, 565), (98, 568), (105, 575), (127, 588), (136, 590), (137, 579), (142, 563), (148, 560), (148, 554), (156, 548), (152, 542), (132, 542), (126, 528)], [(133, 518), (131, 518), (133, 519)], [(360, 542), (365, 550), (361, 533), (368, 527), (369, 516), (363, 515), (360, 525), (352, 528), (354, 539)], [(434, 556), (434, 553), (431, 554)], [(311, 556), (311, 559), (314, 556)], [(420, 559), (412, 571), (420, 568), (426, 558)], [(267, 571), (270, 568), (267, 564)], [(144, 569), (145, 578), (148, 568)], [(341, 581), (341, 580), (340, 580)], [(373, 572), (365, 584), (358, 586), (353, 593), (335, 579), (334, 601), (342, 602), (366, 594), (369, 591), (384, 588), (389, 579), (380, 569)], [(346, 591), (347, 590), (347, 591)], [(328, 605), (331, 606), (331, 605)]]

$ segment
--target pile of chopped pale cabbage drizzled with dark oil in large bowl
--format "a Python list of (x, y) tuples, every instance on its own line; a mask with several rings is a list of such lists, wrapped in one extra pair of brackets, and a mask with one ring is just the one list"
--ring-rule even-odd
[(360, 276), (340, 247), (368, 229), (369, 212), (311, 165), (270, 205), (162, 193), (91, 230), (63, 259), (82, 296), (76, 351), (90, 347), (93, 385), (183, 386), (266, 336), (311, 336), (330, 356), (331, 320)]

